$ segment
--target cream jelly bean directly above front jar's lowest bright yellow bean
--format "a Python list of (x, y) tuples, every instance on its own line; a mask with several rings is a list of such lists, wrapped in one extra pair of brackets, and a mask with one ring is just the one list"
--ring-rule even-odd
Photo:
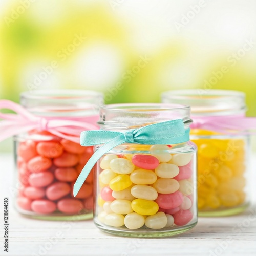
[(131, 189), (131, 194), (140, 199), (154, 201), (158, 197), (157, 190), (147, 185), (135, 185)]

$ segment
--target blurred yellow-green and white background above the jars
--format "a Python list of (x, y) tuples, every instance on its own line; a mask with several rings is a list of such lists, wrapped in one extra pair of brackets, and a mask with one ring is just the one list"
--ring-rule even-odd
[(255, 0), (0, 0), (0, 98), (76, 88), (159, 102), (166, 90), (232, 89), (256, 116), (255, 13)]

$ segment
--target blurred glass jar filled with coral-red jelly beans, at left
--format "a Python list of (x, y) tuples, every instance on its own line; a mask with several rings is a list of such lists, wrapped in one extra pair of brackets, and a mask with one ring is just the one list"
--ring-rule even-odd
[[(20, 97), (22, 106), (36, 117), (55, 120), (57, 124), (67, 119), (71, 125), (89, 123), (89, 130), (90, 125), (97, 127), (101, 101), (100, 93), (83, 90), (37, 90)], [(18, 187), (15, 206), (20, 214), (46, 220), (93, 217), (92, 174), (73, 197), (73, 185), (92, 156), (93, 147), (82, 147), (79, 135), (77, 142), (69, 140), (72, 128), (60, 127), (58, 131), (64, 137), (46, 127), (14, 137)]]

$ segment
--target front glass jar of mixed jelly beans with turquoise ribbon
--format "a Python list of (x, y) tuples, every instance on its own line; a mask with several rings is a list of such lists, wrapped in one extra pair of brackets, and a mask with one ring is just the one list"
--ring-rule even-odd
[(105, 232), (166, 237), (197, 223), (196, 146), (190, 108), (177, 104), (112, 104), (100, 110), (101, 130), (81, 133), (95, 145), (74, 185), (94, 167), (94, 222)]

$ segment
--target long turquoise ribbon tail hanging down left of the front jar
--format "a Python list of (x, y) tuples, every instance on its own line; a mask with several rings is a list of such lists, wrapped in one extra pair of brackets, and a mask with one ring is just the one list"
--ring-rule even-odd
[(77, 195), (83, 182), (86, 180), (87, 176), (91, 172), (93, 166), (97, 163), (98, 159), (100, 159), (100, 157), (102, 157), (108, 151), (112, 150), (112, 148), (125, 142), (126, 142), (126, 139), (124, 137), (124, 134), (120, 134), (117, 137), (113, 138), (108, 143), (104, 144), (92, 155), (92, 157), (89, 159), (87, 164), (83, 167), (82, 172), (80, 173), (80, 175), (78, 176), (74, 184), (74, 188), (73, 188), (74, 197)]

